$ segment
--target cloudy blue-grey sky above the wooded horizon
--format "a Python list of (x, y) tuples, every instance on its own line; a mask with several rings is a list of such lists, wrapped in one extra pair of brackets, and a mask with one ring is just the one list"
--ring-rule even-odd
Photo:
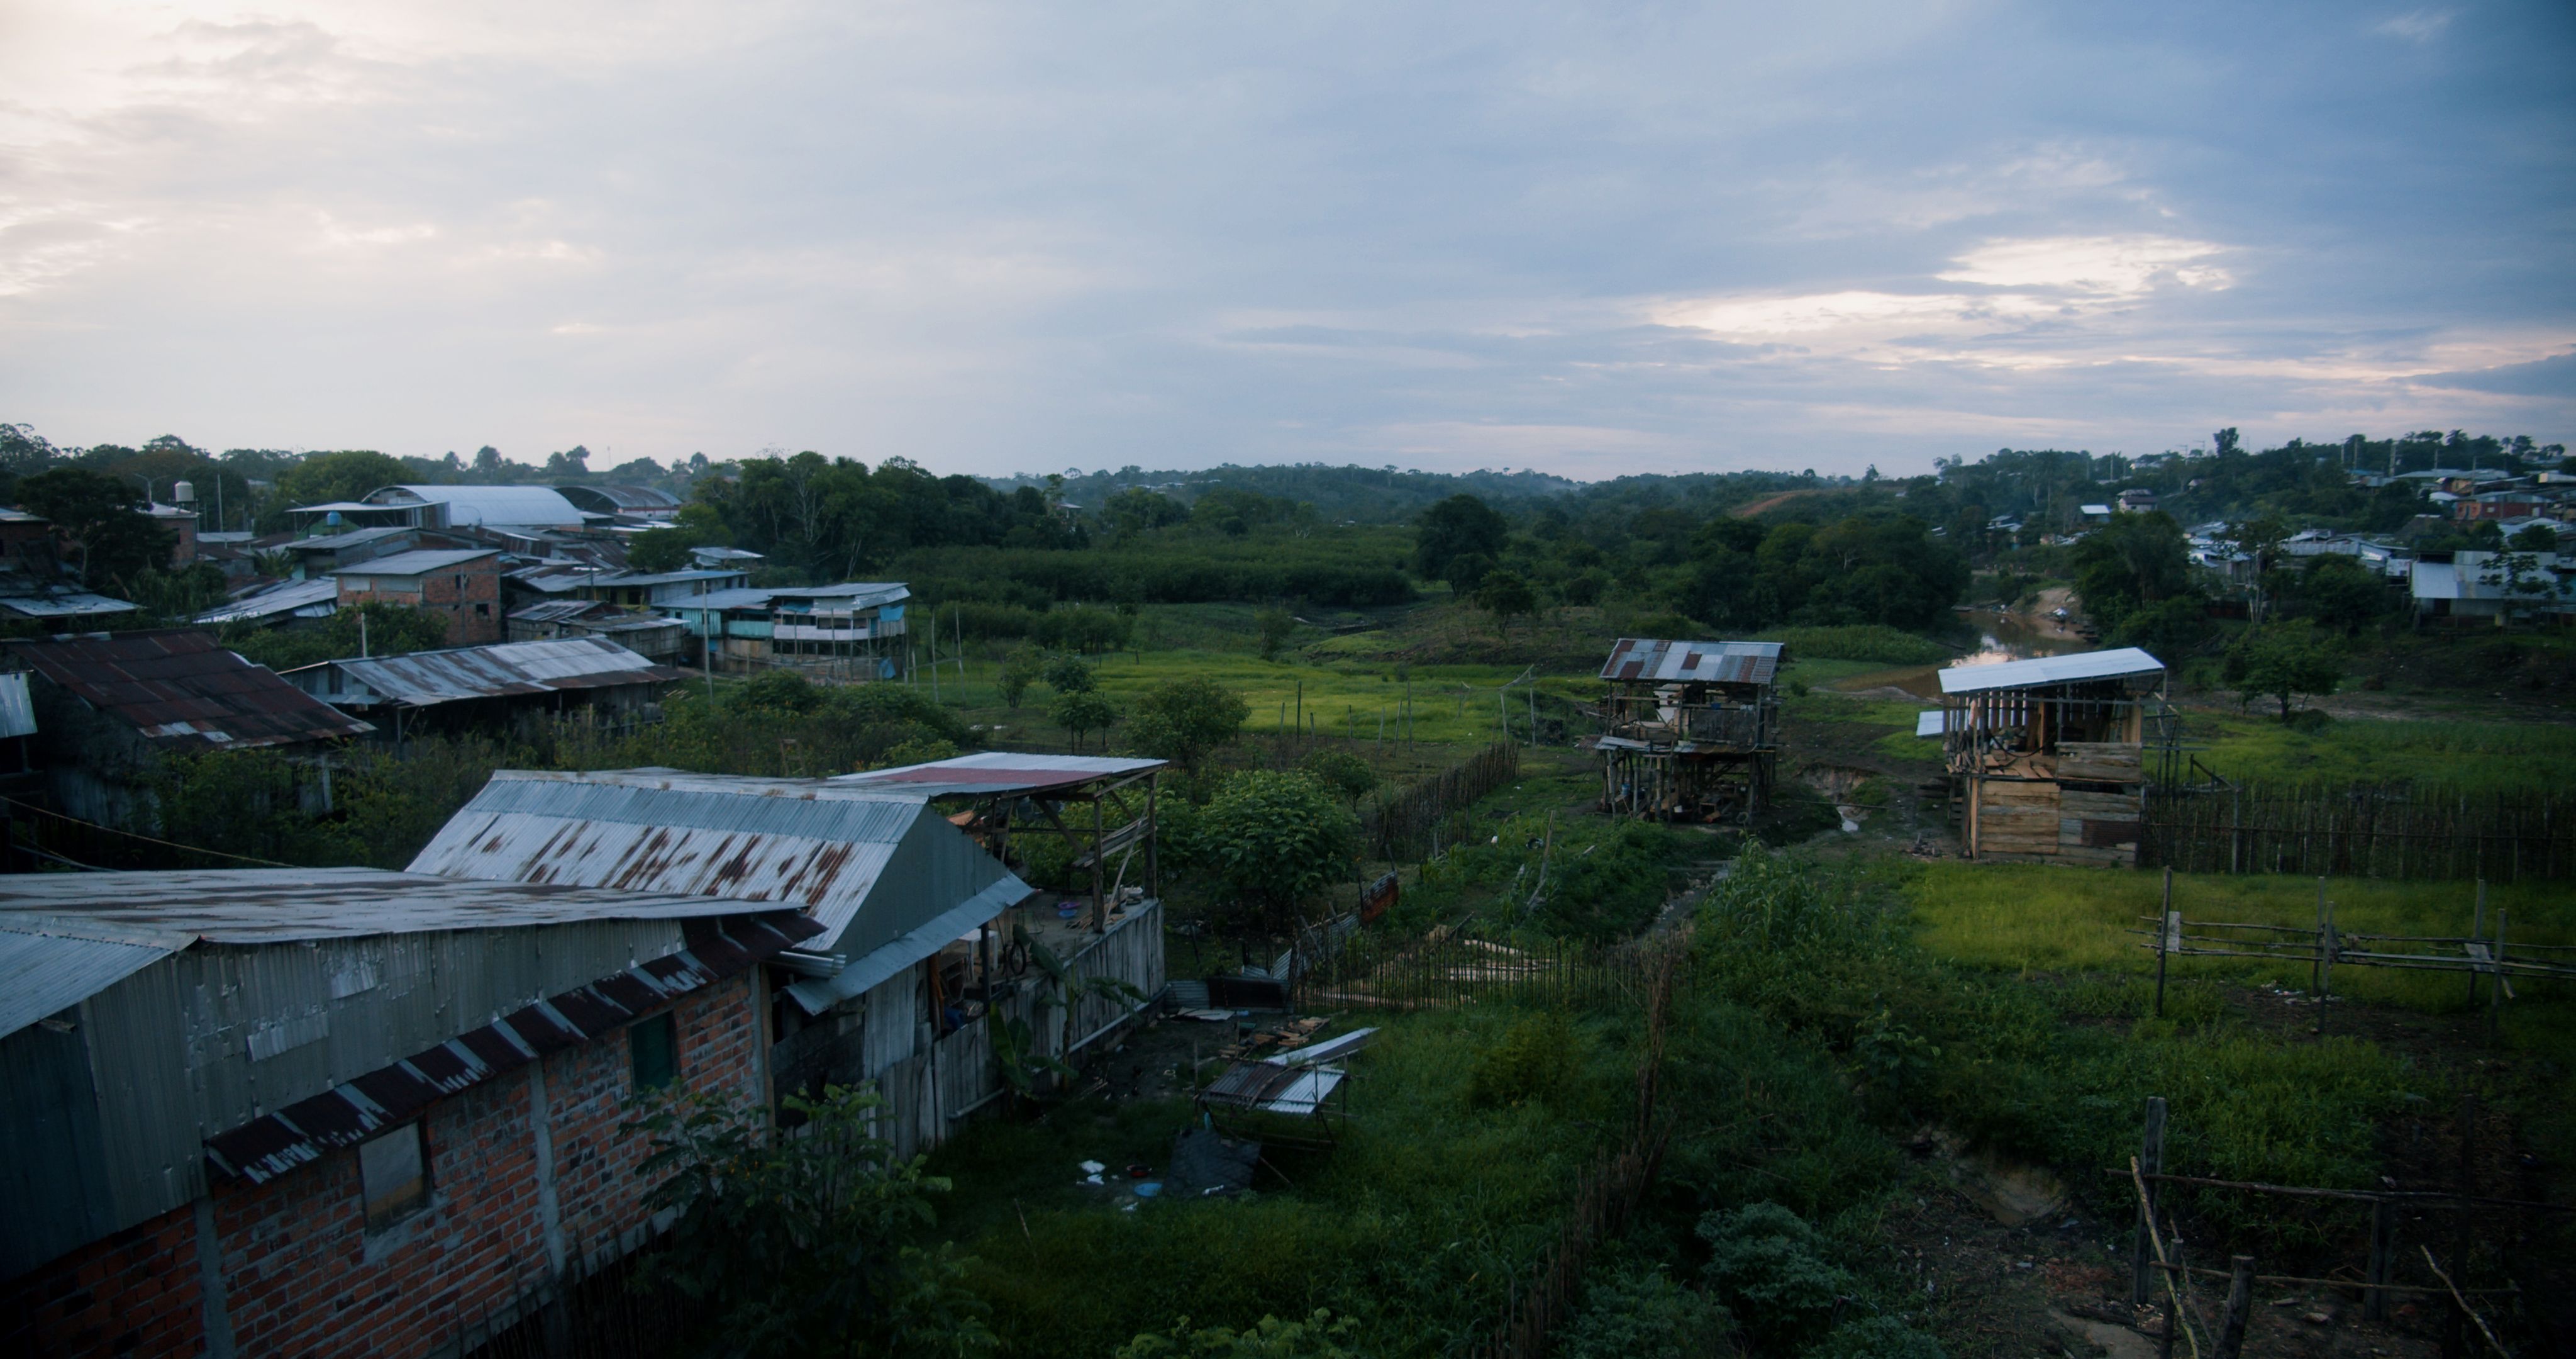
[(0, 0), (0, 420), (935, 472), (2576, 441), (2576, 8)]

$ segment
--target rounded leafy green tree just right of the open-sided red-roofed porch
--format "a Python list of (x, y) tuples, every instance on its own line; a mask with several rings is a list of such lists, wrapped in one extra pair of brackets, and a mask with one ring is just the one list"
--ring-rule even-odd
[(1267, 768), (1226, 779), (1193, 830), (1195, 854), (1252, 921), (1280, 928), (1298, 903), (1350, 879), (1360, 817), (1324, 784)]

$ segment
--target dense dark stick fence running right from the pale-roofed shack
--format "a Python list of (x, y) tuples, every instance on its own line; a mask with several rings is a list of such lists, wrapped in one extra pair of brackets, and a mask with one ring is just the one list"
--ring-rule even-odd
[(2576, 797), (2154, 787), (2138, 864), (2331, 877), (2576, 877)]

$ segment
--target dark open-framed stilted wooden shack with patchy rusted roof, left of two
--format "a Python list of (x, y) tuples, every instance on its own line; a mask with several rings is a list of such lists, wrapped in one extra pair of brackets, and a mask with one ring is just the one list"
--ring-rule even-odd
[(1602, 810), (1752, 820), (1780, 761), (1780, 642), (1620, 637), (1602, 660)]

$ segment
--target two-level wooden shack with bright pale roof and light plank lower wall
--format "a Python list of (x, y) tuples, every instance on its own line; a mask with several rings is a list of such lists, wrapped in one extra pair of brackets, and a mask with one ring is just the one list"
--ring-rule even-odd
[(2136, 864), (2148, 750), (2172, 745), (2164, 663), (2138, 647), (1940, 673), (1968, 859)]

